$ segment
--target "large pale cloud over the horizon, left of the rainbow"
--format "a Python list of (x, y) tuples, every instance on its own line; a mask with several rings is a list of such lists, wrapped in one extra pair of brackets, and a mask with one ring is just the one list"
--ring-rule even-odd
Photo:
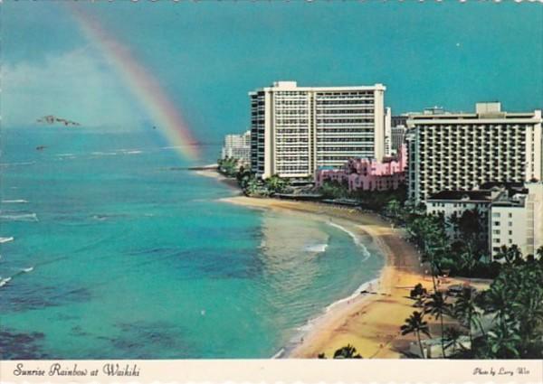
[(21, 61), (2, 69), (3, 126), (29, 126), (56, 115), (87, 126), (129, 129), (144, 117), (138, 104), (102, 61), (86, 47)]

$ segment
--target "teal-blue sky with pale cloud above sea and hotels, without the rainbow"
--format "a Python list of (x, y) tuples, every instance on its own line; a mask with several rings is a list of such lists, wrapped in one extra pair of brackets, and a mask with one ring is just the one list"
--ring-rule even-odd
[[(386, 85), (393, 114), (543, 108), (543, 5), (523, 2), (77, 2), (126, 46), (201, 142), (249, 126), (252, 89)], [(62, 1), (5, 0), (2, 125), (53, 114), (130, 130), (153, 116)]]

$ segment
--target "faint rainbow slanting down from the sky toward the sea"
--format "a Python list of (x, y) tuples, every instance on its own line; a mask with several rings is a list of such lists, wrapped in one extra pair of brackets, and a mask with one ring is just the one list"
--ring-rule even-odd
[(100, 23), (78, 9), (73, 2), (65, 2), (85, 37), (100, 50), (119, 73), (130, 91), (153, 119), (157, 129), (167, 141), (190, 161), (198, 159), (194, 137), (183, 121), (174, 103), (157, 79), (130, 54), (129, 49), (115, 39)]

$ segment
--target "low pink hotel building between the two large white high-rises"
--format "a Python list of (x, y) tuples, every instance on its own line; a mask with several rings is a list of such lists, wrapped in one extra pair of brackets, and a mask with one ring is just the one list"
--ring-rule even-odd
[(319, 168), (315, 173), (317, 187), (329, 181), (347, 182), (348, 190), (386, 191), (395, 190), (405, 182), (407, 149), (401, 145), (398, 155), (385, 157), (382, 162), (376, 159), (349, 159), (341, 168)]

